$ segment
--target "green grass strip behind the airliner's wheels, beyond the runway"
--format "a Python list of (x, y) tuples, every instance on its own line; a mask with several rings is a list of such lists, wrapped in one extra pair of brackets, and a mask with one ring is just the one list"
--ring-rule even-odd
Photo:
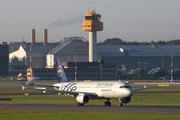
[[(13, 104), (76, 104), (74, 98), (64, 95), (10, 95), (0, 96), (0, 98), (12, 98), (8, 103)], [(105, 100), (90, 100), (89, 105), (103, 105)], [(111, 100), (112, 105), (118, 106), (116, 99)], [(125, 106), (180, 106), (180, 94), (146, 94), (137, 93), (132, 96), (131, 102)]]

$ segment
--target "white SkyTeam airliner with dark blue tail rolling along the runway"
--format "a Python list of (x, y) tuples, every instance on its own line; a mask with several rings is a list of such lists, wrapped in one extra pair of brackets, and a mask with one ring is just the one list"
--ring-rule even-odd
[[(53, 92), (64, 95), (69, 95), (76, 99), (77, 106), (84, 106), (90, 99), (106, 99), (104, 106), (111, 106), (110, 99), (117, 99), (119, 106), (131, 101), (131, 96), (134, 92), (145, 90), (146, 86), (142, 88), (132, 89), (127, 82), (70, 82), (64, 72), (63, 66), (59, 59), (56, 59), (57, 78), (58, 83), (52, 86), (36, 85), (34, 90), (41, 90), (43, 93)], [(52, 87), (54, 89), (47, 89)]]

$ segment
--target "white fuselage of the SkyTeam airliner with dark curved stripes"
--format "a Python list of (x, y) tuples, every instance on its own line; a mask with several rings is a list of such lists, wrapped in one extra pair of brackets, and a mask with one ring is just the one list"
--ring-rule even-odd
[(94, 93), (99, 98), (126, 98), (133, 95), (130, 85), (124, 82), (62, 82), (53, 86), (63, 91)]

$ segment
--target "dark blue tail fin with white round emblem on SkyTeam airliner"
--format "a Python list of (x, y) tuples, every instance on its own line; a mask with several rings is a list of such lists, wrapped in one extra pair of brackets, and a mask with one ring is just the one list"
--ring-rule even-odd
[(56, 59), (58, 82), (69, 82), (59, 59)]

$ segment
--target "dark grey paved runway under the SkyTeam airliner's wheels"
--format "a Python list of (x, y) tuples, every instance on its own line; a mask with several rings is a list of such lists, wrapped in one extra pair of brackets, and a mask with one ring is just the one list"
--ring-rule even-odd
[(57, 105), (57, 104), (0, 104), (0, 109), (10, 110), (59, 110), (59, 111), (97, 111), (97, 112), (148, 112), (148, 113), (180, 113), (178, 106), (111, 106)]

